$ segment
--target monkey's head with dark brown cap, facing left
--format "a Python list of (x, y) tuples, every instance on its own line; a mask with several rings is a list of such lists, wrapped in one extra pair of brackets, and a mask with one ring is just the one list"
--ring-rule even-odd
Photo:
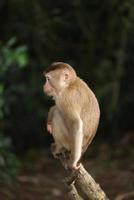
[(52, 63), (44, 72), (46, 82), (43, 86), (44, 92), (48, 96), (57, 96), (69, 86), (76, 78), (75, 70), (63, 62)]

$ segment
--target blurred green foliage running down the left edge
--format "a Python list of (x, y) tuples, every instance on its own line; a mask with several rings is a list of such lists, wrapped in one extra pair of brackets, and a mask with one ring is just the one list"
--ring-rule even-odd
[[(25, 46), (13, 47), (16, 39), (10, 39), (5, 45), (0, 44), (0, 180), (9, 180), (16, 176), (19, 161), (11, 151), (11, 139), (4, 137), (6, 116), (10, 115), (10, 101), (14, 98), (12, 85), (5, 77), (15, 70), (21, 70), (28, 61)], [(8, 96), (8, 94), (10, 95)]]

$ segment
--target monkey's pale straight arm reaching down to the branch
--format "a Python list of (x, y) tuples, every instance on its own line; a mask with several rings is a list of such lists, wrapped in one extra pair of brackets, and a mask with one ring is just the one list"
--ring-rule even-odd
[[(68, 102), (69, 103), (69, 102)], [(64, 109), (64, 115), (68, 124), (69, 141), (71, 150), (71, 168), (77, 169), (78, 161), (82, 154), (83, 122), (80, 118), (80, 107), (75, 103), (69, 103)]]

